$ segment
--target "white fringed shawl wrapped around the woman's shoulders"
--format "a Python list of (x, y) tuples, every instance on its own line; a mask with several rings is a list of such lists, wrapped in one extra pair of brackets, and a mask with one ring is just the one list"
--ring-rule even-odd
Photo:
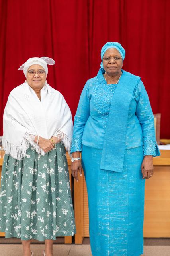
[(6, 154), (21, 160), (30, 144), (38, 154), (45, 152), (33, 141), (35, 136), (61, 138), (70, 152), (72, 116), (60, 92), (49, 84), (41, 89), (41, 101), (34, 90), (23, 83), (12, 90), (4, 110), (3, 147)]

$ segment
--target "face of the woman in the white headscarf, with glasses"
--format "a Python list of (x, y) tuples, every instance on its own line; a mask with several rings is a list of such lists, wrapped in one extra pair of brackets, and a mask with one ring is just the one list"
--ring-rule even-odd
[[(34, 74), (35, 73), (35, 74)], [(39, 74), (38, 74), (39, 73)], [(43, 88), (46, 80), (45, 70), (40, 65), (32, 65), (27, 70), (27, 83), (31, 88)]]

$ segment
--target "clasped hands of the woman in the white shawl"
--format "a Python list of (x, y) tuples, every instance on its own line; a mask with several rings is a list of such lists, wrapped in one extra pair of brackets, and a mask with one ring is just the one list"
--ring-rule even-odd
[[(37, 142), (37, 138), (38, 138), (38, 136), (35, 137), (35, 140), (34, 140), (35, 142)], [(54, 141), (55, 144), (57, 144), (61, 141), (61, 139), (59, 139), (57, 137), (51, 137), (51, 140), (48, 140), (48, 139), (45, 139), (45, 138), (39, 136), (38, 145), (45, 153), (47, 153), (55, 147), (55, 144), (53, 143), (52, 140)]]

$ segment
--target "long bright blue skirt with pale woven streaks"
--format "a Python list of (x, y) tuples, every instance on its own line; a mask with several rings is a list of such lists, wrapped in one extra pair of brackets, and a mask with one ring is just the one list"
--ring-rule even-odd
[(143, 254), (143, 146), (125, 150), (122, 173), (101, 170), (101, 155), (102, 150), (83, 145), (92, 255), (139, 256)]

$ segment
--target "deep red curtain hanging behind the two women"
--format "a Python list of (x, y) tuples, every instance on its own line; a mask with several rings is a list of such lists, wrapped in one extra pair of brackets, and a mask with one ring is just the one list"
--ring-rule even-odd
[(162, 114), (161, 138), (170, 138), (169, 0), (0, 0), (0, 135), (10, 91), (23, 83), (18, 68), (49, 56), (47, 82), (74, 116), (82, 88), (100, 67), (100, 50), (117, 41), (123, 68), (141, 76), (152, 110)]

